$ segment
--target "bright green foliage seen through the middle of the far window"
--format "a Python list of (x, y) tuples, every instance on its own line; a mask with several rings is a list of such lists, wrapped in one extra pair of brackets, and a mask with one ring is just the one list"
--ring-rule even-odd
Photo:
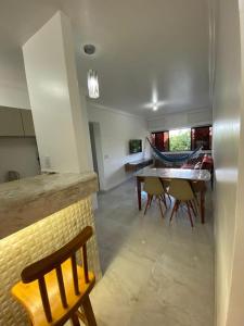
[(169, 150), (170, 151), (191, 150), (191, 129), (170, 130)]

